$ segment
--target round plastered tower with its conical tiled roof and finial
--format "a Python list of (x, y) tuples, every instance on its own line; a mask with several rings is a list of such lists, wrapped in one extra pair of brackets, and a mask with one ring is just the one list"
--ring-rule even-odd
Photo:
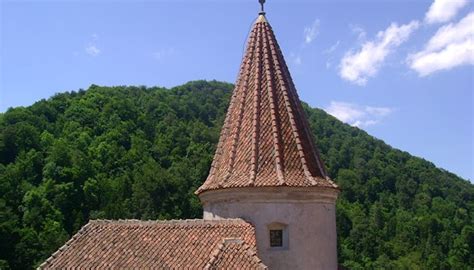
[(255, 226), (270, 269), (337, 269), (335, 202), (296, 88), (265, 13), (255, 21), (209, 176), (204, 219)]

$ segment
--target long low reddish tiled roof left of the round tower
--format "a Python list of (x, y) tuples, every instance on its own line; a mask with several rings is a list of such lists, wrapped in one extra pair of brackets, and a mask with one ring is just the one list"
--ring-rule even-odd
[[(240, 244), (223, 244), (228, 238)], [(255, 252), (254, 228), (242, 219), (94, 220), (39, 268), (262, 269)]]

